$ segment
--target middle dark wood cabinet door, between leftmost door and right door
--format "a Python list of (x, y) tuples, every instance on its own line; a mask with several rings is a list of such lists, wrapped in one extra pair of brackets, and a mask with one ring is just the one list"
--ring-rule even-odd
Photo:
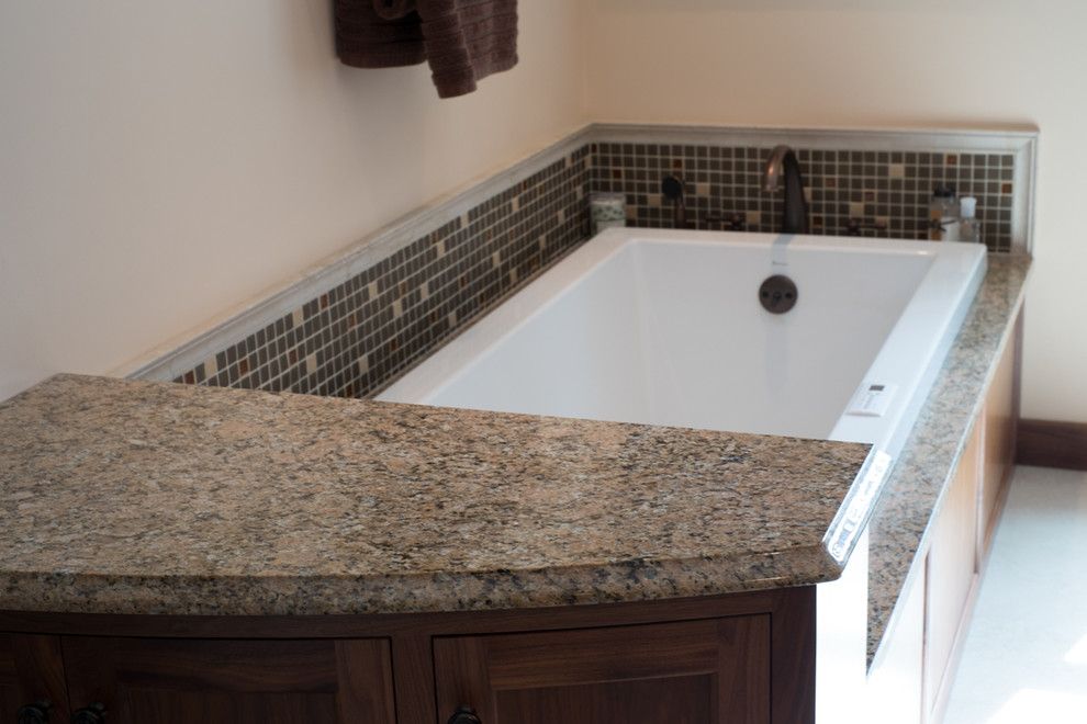
[(393, 723), (384, 640), (65, 637), (64, 655), (72, 709), (109, 724)]

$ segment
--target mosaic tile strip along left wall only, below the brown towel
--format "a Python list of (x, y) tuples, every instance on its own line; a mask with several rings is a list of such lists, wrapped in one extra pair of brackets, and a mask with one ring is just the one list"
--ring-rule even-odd
[(583, 147), (176, 382), (362, 397), (589, 237)]

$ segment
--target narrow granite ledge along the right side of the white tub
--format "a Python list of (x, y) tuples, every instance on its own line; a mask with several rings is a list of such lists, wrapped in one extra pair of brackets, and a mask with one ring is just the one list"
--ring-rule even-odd
[(1010, 343), (1030, 270), (1027, 257), (990, 254), (988, 273), (870, 523), (869, 661), (871, 663), (924, 545), (980, 411), (1005, 344)]

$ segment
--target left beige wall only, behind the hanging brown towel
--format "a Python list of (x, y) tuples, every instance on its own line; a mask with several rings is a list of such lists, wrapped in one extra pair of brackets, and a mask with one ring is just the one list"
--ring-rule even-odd
[(330, 0), (0, 2), (0, 399), (103, 373), (584, 124), (581, 0), (439, 101)]

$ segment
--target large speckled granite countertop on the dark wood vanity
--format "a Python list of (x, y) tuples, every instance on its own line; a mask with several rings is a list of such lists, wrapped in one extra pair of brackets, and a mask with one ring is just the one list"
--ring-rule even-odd
[(479, 610), (811, 584), (867, 445), (101, 377), (0, 405), (0, 609)]

